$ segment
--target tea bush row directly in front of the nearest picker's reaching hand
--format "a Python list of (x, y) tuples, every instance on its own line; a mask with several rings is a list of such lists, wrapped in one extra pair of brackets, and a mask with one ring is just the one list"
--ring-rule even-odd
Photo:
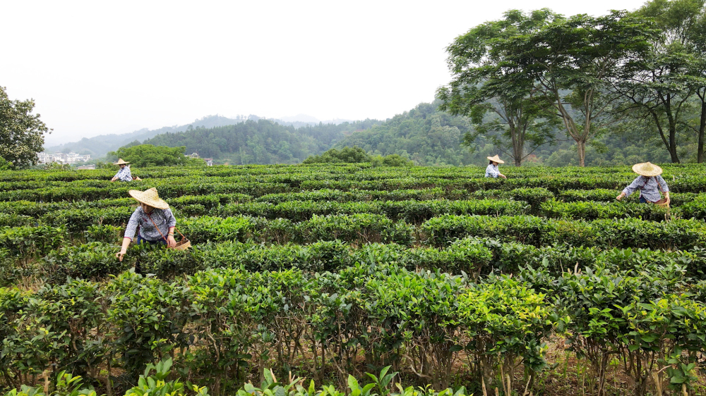
[(651, 249), (606, 249), (555, 245), (534, 247), (489, 238), (467, 238), (448, 247), (404, 247), (396, 244), (354, 246), (340, 241), (310, 245), (259, 245), (222, 242), (197, 245), (189, 251), (151, 246), (131, 247), (122, 262), (115, 258), (119, 247), (100, 242), (56, 249), (42, 259), (45, 280), (62, 283), (67, 277), (104, 279), (136, 265), (143, 273), (162, 279), (191, 275), (208, 268), (244, 268), (247, 271), (308, 273), (340, 271), (356, 265), (397, 264), (409, 271), (425, 269), (466, 273), (473, 279), (488, 273), (517, 274), (528, 266), (551, 274), (575, 268), (604, 267), (615, 271), (652, 271), (654, 268), (683, 269), (687, 276), (703, 278), (706, 249), (662, 251)]

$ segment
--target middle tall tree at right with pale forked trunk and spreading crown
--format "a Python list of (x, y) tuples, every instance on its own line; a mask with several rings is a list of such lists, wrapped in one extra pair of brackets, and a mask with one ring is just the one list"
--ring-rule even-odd
[(511, 80), (538, 82), (537, 94), (553, 102), (566, 134), (576, 142), (579, 165), (585, 166), (586, 145), (615, 122), (619, 96), (607, 89), (609, 81), (626, 63), (645, 56), (658, 32), (626, 11), (557, 20), (503, 42), (503, 73)]

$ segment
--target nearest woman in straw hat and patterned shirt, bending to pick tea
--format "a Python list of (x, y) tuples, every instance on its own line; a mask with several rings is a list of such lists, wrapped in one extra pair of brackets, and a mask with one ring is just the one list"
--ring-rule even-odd
[(135, 237), (135, 232), (140, 227), (137, 236), (137, 243), (152, 243), (167, 245), (167, 247), (177, 246), (174, 240), (174, 228), (177, 226), (177, 219), (169, 209), (169, 204), (160, 199), (157, 189), (152, 187), (149, 190), (128, 191), (131, 197), (140, 202), (140, 206), (130, 216), (128, 226), (125, 228), (123, 245), (120, 252), (115, 256), (123, 261), (123, 256), (128, 250), (131, 240)]

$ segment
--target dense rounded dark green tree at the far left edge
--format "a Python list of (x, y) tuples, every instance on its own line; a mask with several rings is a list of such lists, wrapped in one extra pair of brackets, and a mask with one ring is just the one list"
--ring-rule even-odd
[(44, 134), (51, 133), (40, 115), (32, 114), (35, 101), (10, 100), (5, 87), (0, 87), (0, 157), (13, 167), (34, 165), (42, 151)]

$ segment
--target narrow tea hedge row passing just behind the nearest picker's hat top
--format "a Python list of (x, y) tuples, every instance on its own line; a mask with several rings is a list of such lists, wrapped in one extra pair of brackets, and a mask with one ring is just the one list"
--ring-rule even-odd
[[(180, 197), (194, 194), (241, 193), (253, 197), (282, 192), (306, 192), (311, 190), (334, 189), (343, 192), (351, 190), (393, 191), (441, 188), (443, 190), (516, 190), (522, 188), (545, 188), (553, 194), (563, 194), (566, 190), (621, 190), (632, 181), (634, 175), (620, 173), (571, 177), (566, 175), (527, 176), (505, 179), (466, 178), (453, 175), (429, 177), (409, 174), (388, 175), (384, 172), (357, 175), (341, 173), (301, 173), (292, 175), (243, 175), (241, 177), (182, 177), (145, 179), (140, 182), (111, 183), (108, 180), (76, 180), (73, 182), (51, 182), (41, 184), (36, 181), (1, 182), (0, 200), (54, 202), (77, 199), (107, 199), (125, 197), (129, 189), (145, 190), (157, 187), (165, 197)], [(25, 183), (25, 184), (23, 184)], [(677, 193), (700, 193), (706, 190), (706, 177), (684, 176), (669, 182), (670, 190)]]

